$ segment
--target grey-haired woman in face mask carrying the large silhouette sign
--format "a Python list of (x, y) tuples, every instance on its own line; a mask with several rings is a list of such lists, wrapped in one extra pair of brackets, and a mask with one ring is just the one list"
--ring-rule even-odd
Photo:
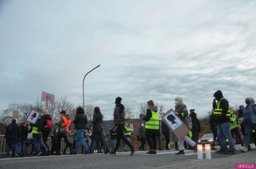
[[(184, 105), (183, 103), (182, 97), (175, 98), (175, 115), (178, 115), (180, 119), (183, 121), (183, 123), (188, 127), (189, 124), (186, 119), (186, 117), (188, 116), (188, 110), (186, 105)], [(192, 149), (196, 150), (196, 142), (194, 142), (192, 139), (185, 135), (182, 139), (178, 139), (180, 151), (178, 153), (175, 153), (176, 155), (185, 154), (184, 141), (186, 141), (192, 147)]]

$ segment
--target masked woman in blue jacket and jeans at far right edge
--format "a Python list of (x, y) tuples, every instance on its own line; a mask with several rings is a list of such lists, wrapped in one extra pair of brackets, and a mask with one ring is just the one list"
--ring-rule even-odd
[(252, 130), (256, 130), (256, 105), (252, 97), (246, 97), (246, 107), (244, 107), (244, 119), (245, 119), (245, 141), (244, 146), (240, 147), (241, 151), (248, 151), (248, 145), (250, 144), (250, 137)]

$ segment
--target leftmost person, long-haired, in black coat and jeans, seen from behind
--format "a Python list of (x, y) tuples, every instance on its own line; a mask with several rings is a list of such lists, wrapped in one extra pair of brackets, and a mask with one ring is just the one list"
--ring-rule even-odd
[(12, 145), (14, 146), (15, 149), (15, 156), (20, 157), (18, 153), (18, 139), (20, 140), (20, 126), (16, 123), (16, 119), (12, 119), (11, 123), (6, 127), (5, 130), (5, 136), (4, 138), (6, 139), (7, 143), (7, 148), (6, 148), (6, 158), (10, 157), (10, 149)]

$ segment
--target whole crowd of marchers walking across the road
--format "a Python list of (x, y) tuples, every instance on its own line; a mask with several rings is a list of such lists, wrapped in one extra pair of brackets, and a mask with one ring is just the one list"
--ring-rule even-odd
[[(256, 105), (252, 97), (246, 97), (246, 107), (240, 106), (238, 116), (234, 115), (230, 109), (228, 101), (223, 97), (220, 90), (214, 93), (212, 115), (210, 115), (209, 123), (211, 131), (214, 135), (212, 150), (215, 149), (216, 137), (220, 144), (220, 149), (217, 153), (235, 154), (233, 136), (238, 136), (239, 142), (242, 145), (241, 151), (247, 152), (250, 150), (250, 140), (254, 139), (256, 143)], [(70, 149), (70, 155), (76, 155), (81, 147), (83, 154), (92, 153), (109, 153), (116, 155), (119, 149), (120, 141), (125, 143), (124, 151), (130, 151), (130, 155), (134, 155), (136, 149), (130, 141), (131, 130), (124, 118), (124, 105), (121, 103), (122, 98), (117, 97), (115, 100), (116, 107), (114, 109), (114, 123), (109, 134), (105, 134), (103, 127), (103, 115), (99, 107), (94, 108), (92, 126), (88, 127), (87, 117), (82, 107), (76, 109), (76, 116), (73, 121), (66, 111), (60, 111), (60, 120), (55, 123), (56, 129), (52, 131), (52, 121), (47, 109), (40, 112), (40, 117), (36, 123), (25, 124), (21, 122), (19, 125), (15, 119), (12, 119), (6, 127), (6, 157), (10, 157), (12, 149), (12, 157), (26, 156), (48, 156), (61, 155), (61, 141), (64, 139), (66, 147), (62, 154), (66, 155), (67, 148)], [(140, 116), (140, 127), (138, 129), (137, 140), (141, 142), (140, 151), (147, 151), (145, 148), (146, 141), (150, 149), (148, 154), (156, 154), (157, 140), (158, 150), (163, 150), (161, 147), (161, 135), (166, 139), (165, 149), (170, 150), (170, 140), (175, 143), (175, 149), (179, 150), (176, 155), (183, 155), (184, 149), (193, 149), (197, 151), (198, 135), (201, 131), (200, 123), (197, 119), (195, 109), (190, 109), (188, 112), (182, 97), (176, 97), (174, 113), (181, 121), (190, 129), (190, 132), (184, 137), (177, 139), (174, 133), (170, 130), (170, 126), (160, 120), (158, 107), (154, 101), (147, 102), (146, 115)], [(187, 118), (190, 117), (190, 118)], [(71, 128), (73, 123), (74, 128)], [(190, 125), (192, 123), (192, 125)], [(244, 142), (240, 137), (240, 130), (244, 135)], [(51, 149), (48, 146), (48, 137), (51, 137)], [(111, 150), (106, 142), (106, 137), (110, 137), (112, 141)], [(229, 148), (226, 145), (226, 139), (229, 142)], [(96, 145), (94, 146), (94, 143)], [(187, 144), (188, 143), (188, 147)], [(31, 151), (29, 147), (31, 145)], [(129, 148), (127, 150), (127, 148)]]

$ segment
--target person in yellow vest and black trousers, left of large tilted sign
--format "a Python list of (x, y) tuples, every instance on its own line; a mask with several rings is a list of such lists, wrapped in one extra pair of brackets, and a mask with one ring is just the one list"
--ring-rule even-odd
[(144, 116), (142, 119), (146, 121), (146, 140), (148, 141), (148, 145), (150, 146), (150, 151), (148, 151), (148, 154), (156, 154), (156, 136), (159, 132), (159, 117), (158, 107), (155, 106), (152, 100), (148, 101), (146, 116)]

